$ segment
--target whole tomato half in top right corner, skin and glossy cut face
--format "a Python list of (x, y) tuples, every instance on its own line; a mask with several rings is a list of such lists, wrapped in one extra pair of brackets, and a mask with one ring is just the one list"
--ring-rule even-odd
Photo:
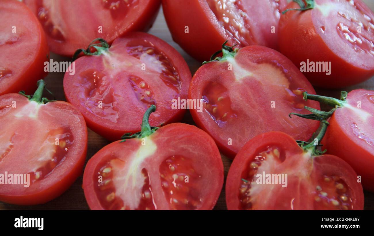
[[(286, 8), (300, 8), (291, 2)], [(315, 0), (314, 9), (290, 10), (279, 21), (280, 52), (301, 62), (331, 62), (304, 72), (323, 88), (341, 88), (374, 75), (374, 13), (361, 0)], [(309, 67), (309, 65), (308, 65)], [(310, 68), (316, 70), (316, 68)]]

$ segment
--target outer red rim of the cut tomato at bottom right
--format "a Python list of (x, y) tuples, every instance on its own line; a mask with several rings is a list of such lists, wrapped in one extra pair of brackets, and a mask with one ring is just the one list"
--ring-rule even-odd
[[(303, 153), (303, 150), (298, 146), (295, 140), (291, 136), (282, 132), (267, 132), (264, 134), (260, 134), (257, 137), (253, 138), (251, 141), (247, 142), (236, 155), (227, 175), (225, 193), (226, 205), (228, 210), (240, 209), (240, 201), (238, 194), (240, 189), (240, 180), (242, 178), (242, 170), (244, 168), (243, 166), (245, 166), (246, 163), (253, 159), (254, 155), (257, 154), (259, 148), (273, 144), (277, 144), (279, 147), (284, 148), (286, 150), (286, 156)], [(352, 178), (356, 179), (356, 173), (355, 171), (353, 171), (352, 167), (350, 167), (348, 163), (341, 161), (341, 159), (337, 156), (322, 155), (312, 158), (314, 158), (313, 162), (315, 162), (318, 166), (332, 165), (336, 167), (336, 169), (338, 170), (350, 170), (348, 173), (339, 173), (348, 174), (341, 175), (341, 178), (345, 181)], [(361, 184), (355, 184), (354, 186), (350, 187), (353, 189), (353, 199), (355, 199), (354, 205), (356, 206), (356, 209), (364, 209), (364, 193)], [(266, 200), (267, 199), (264, 199), (264, 201)], [(312, 205), (302, 204), (304, 203), (301, 203), (301, 205), (296, 206), (295, 209), (299, 209), (297, 207), (302, 207), (300, 209), (313, 209)]]

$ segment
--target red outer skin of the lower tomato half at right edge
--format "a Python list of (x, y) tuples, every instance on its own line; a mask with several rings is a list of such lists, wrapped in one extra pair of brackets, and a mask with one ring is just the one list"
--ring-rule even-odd
[[(373, 91), (365, 89), (356, 89), (351, 91), (347, 96), (347, 101), (352, 105), (357, 105), (356, 100), (359, 95)], [(352, 102), (351, 102), (352, 101)], [(365, 104), (360, 109), (365, 109)], [(329, 119), (329, 127), (324, 138), (324, 147), (328, 154), (332, 154), (345, 160), (352, 166), (358, 175), (362, 177), (362, 186), (365, 190), (374, 192), (374, 152), (373, 147), (359, 140), (357, 137), (353, 138), (352, 134), (347, 133), (344, 129), (346, 122), (355, 122), (349, 114), (345, 113), (344, 107), (338, 108)], [(373, 122), (372, 122), (373, 123)], [(365, 124), (370, 127), (370, 123)], [(373, 126), (371, 126), (373, 127)]]

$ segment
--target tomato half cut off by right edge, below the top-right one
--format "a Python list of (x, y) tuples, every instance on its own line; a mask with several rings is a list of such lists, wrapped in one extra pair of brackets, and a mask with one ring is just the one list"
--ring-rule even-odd
[(334, 112), (329, 123), (327, 153), (348, 162), (361, 175), (364, 189), (374, 191), (374, 91), (349, 92), (347, 104)]

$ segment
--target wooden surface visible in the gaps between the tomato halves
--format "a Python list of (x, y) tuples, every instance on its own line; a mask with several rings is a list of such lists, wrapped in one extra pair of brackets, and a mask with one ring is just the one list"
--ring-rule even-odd
[[(374, 9), (374, 0), (364, 0)], [(188, 66), (190, 67), (191, 73), (194, 74), (197, 68), (200, 67), (200, 63), (191, 58), (186, 52), (184, 52), (179, 45), (173, 42), (171, 35), (169, 33), (168, 27), (166, 26), (165, 19), (162, 13), (162, 9), (160, 9), (160, 13), (157, 16), (156, 22), (154, 23), (153, 27), (149, 31), (149, 33), (165, 40), (167, 43), (172, 45), (175, 49), (177, 49), (184, 59), (187, 61)], [(58, 55), (51, 53), (51, 59), (53, 61), (69, 61), (70, 58), (64, 58)], [(62, 80), (64, 77), (64, 73), (52, 72), (46, 77), (47, 88), (49, 88), (52, 93), (55, 95), (57, 100), (65, 100), (63, 87), (62, 87)], [(361, 83), (359, 85), (346, 88), (344, 90), (351, 91), (352, 89), (357, 88), (365, 88), (374, 90), (374, 78), (368, 80), (367, 82)], [(320, 95), (325, 96), (340, 96), (340, 90), (326, 90), (326, 89), (318, 89), (316, 91)], [(193, 120), (190, 116), (190, 113), (187, 112), (186, 116), (184, 117), (184, 123), (194, 124)], [(93, 131), (89, 129), (88, 131), (88, 151), (87, 151), (87, 158), (86, 161), (89, 160), (98, 150), (100, 150), (105, 145), (109, 144), (107, 140), (95, 134)], [(225, 180), (227, 177), (227, 172), (229, 171), (229, 167), (231, 164), (231, 160), (225, 156), (222, 156), (222, 160), (224, 163), (224, 172), (225, 172)], [(58, 198), (47, 202), (42, 205), (36, 206), (17, 206), (17, 205), (10, 205), (7, 203), (0, 202), (0, 209), (89, 209), (88, 205), (85, 200), (85, 196), (83, 194), (82, 189), (82, 176), (80, 176), (75, 183), (68, 189), (65, 193), (63, 193)], [(214, 209), (226, 209), (226, 202), (224, 196), (224, 186), (221, 192), (220, 198), (218, 199), (217, 205)], [(365, 192), (365, 209), (374, 209), (374, 193)]]

